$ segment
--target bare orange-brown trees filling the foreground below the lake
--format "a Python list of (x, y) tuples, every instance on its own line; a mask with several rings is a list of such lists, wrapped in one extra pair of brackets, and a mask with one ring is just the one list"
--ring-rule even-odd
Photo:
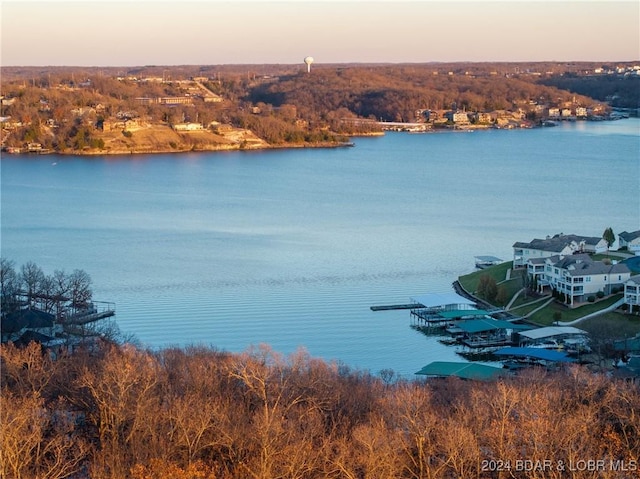
[(640, 468), (637, 385), (580, 366), (424, 382), (268, 347), (105, 343), (53, 361), (31, 343), (1, 346), (0, 359), (0, 477), (619, 479)]

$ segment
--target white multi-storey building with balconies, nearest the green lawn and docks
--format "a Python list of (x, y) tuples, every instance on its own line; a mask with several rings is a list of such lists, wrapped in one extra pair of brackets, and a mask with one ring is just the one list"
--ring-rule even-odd
[(532, 258), (527, 271), (535, 277), (540, 292), (563, 293), (569, 305), (588, 301), (600, 292), (609, 295), (614, 289), (626, 287), (631, 277), (627, 265), (594, 261), (588, 254)]

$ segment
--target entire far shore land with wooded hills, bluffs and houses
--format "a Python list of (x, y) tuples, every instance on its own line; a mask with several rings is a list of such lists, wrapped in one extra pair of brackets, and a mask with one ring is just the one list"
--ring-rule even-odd
[(633, 62), (2, 67), (2, 150), (330, 147), (384, 129), (615, 119), (637, 114), (639, 81)]

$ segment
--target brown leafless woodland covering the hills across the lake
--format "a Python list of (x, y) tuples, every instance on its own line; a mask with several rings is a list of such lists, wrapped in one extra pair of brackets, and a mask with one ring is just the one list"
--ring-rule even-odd
[[(6, 146), (35, 142), (65, 152), (103, 148), (102, 127), (116, 119), (141, 118), (167, 125), (217, 122), (250, 128), (274, 145), (295, 145), (341, 142), (341, 135), (379, 131), (374, 122), (354, 119), (412, 122), (416, 112), (425, 109), (492, 111), (574, 99), (583, 106), (594, 102), (581, 96), (574, 83), (566, 83), (568, 77), (542, 82), (536, 76), (505, 73), (502, 70), (507, 67), (499, 65), (466, 68), (472, 71), (465, 70), (465, 65), (345, 65), (316, 68), (307, 74), (289, 66), (272, 75), (257, 74), (267, 66), (250, 67), (243, 73), (220, 67), (217, 74), (204, 67), (150, 67), (132, 69), (126, 75), (113, 69), (3, 68), (3, 74), (8, 74), (2, 80), (5, 99), (0, 116), (19, 125), (5, 132)], [(145, 75), (156, 75), (155, 81), (142, 81)], [(223, 101), (205, 102), (194, 88), (173, 81), (197, 75)], [(576, 81), (584, 83), (581, 78)], [(597, 94), (595, 98), (601, 101), (612, 95), (618, 98), (621, 90), (616, 88), (606, 92), (587, 89), (584, 95)], [(186, 95), (192, 97), (191, 104), (140, 100)]]

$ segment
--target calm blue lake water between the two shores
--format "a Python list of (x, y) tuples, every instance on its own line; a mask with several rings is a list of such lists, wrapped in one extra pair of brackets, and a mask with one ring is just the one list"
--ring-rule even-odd
[(372, 305), (516, 241), (640, 227), (640, 120), (389, 133), (354, 148), (5, 156), (2, 256), (84, 269), (146, 346), (267, 343), (412, 377), (462, 360)]

